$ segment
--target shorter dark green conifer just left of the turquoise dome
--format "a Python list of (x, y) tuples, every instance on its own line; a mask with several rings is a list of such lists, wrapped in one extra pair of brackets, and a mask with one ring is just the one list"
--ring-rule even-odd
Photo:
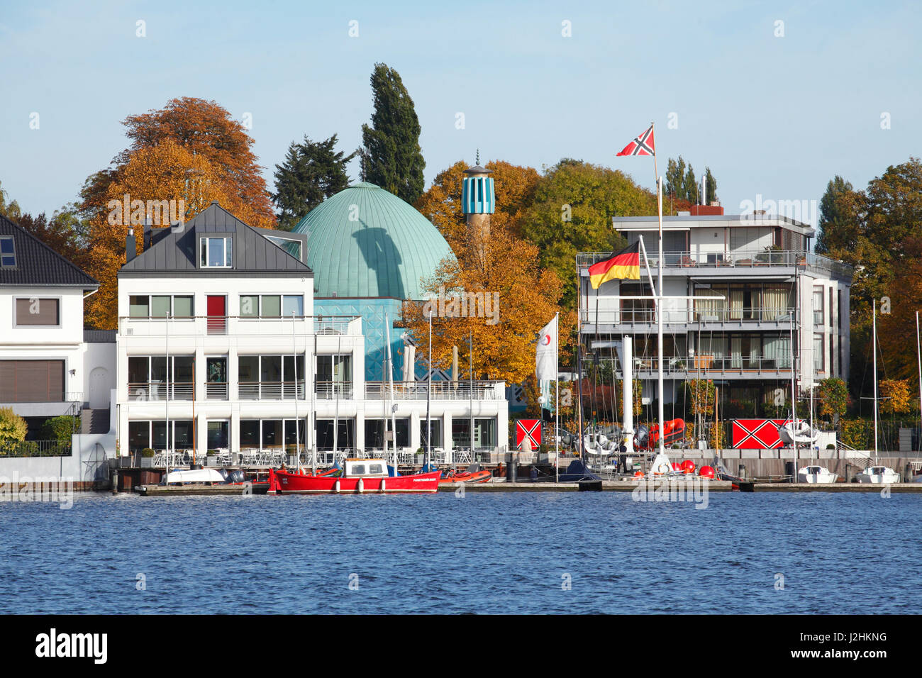
[(278, 228), (290, 231), (324, 201), (349, 185), (346, 164), (355, 157), (335, 149), (337, 136), (311, 141), (306, 135), (299, 144), (291, 142), (285, 161), (276, 165), (276, 192), (272, 201), (278, 208)]

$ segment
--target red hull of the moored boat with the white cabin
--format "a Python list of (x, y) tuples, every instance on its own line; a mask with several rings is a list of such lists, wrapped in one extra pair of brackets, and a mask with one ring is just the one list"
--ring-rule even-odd
[(432, 471), (410, 476), (344, 478), (273, 470), (269, 473), (269, 494), (432, 493), (439, 490), (440, 475), (440, 471)]

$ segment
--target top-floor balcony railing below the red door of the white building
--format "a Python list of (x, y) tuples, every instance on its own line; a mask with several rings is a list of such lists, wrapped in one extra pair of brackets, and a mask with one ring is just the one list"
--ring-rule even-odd
[(201, 337), (229, 335), (234, 337), (273, 335), (361, 335), (361, 315), (194, 315), (191, 317), (119, 318), (122, 337)]

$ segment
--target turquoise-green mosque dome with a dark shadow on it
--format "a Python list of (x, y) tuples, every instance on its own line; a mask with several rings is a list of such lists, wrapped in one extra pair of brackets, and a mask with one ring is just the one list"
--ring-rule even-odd
[(298, 222), (317, 297), (425, 299), (420, 278), (453, 256), (415, 208), (375, 184), (349, 186)]

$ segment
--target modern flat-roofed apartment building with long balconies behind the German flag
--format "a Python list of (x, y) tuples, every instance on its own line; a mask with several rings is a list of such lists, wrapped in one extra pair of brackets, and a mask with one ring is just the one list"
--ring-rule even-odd
[[(810, 251), (810, 225), (764, 214), (663, 219), (664, 402), (682, 398), (689, 379), (713, 379), (721, 400), (762, 415), (780, 388), (790, 395), (793, 331), (799, 389), (824, 378), (848, 378), (852, 269)], [(715, 213), (716, 212), (716, 213)], [(655, 284), (656, 217), (616, 218), (629, 244), (643, 238)], [(656, 315), (644, 258), (641, 280), (612, 280), (596, 291), (586, 268), (610, 256), (580, 253), (580, 320), (584, 346), (632, 336), (643, 394), (656, 399)], [(792, 325), (793, 324), (793, 325)], [(602, 350), (602, 360), (610, 359)], [(620, 376), (620, 368), (617, 370)]]

